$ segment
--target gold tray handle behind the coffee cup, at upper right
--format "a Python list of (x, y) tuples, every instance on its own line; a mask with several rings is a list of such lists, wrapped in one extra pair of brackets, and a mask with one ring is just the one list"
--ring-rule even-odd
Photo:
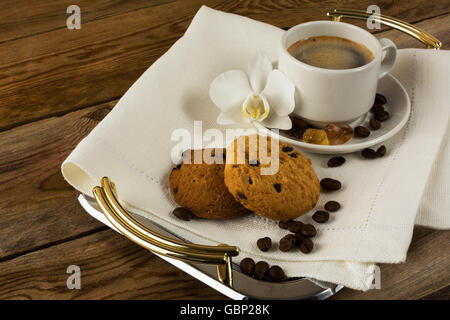
[(378, 21), (394, 29), (400, 30), (416, 38), (417, 40), (425, 44), (427, 48), (439, 50), (439, 48), (442, 46), (442, 42), (433, 37), (431, 34), (402, 20), (395, 19), (393, 17), (385, 16), (382, 14), (377, 16), (362, 10), (334, 9), (333, 11), (327, 12), (327, 16), (332, 18), (334, 21), (341, 21), (342, 18), (367, 20), (367, 18), (372, 16), (372, 18), (375, 21)]

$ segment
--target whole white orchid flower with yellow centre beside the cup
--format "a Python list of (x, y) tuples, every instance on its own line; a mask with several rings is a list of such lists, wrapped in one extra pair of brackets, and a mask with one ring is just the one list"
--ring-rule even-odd
[(222, 111), (217, 123), (259, 121), (268, 128), (290, 129), (295, 86), (281, 71), (273, 70), (272, 63), (262, 53), (248, 63), (247, 74), (230, 70), (211, 83), (209, 96)]

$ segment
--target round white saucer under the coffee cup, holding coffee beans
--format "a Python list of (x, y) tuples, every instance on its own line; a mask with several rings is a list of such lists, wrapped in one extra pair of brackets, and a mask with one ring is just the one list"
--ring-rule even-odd
[[(296, 139), (292, 139), (289, 136), (284, 135), (283, 133), (280, 135), (275, 134), (259, 122), (254, 122), (254, 125), (258, 129), (270, 131), (273, 136), (277, 136), (281, 141), (299, 147), (307, 152), (340, 154), (359, 151), (391, 138), (393, 135), (399, 132), (401, 128), (403, 128), (403, 126), (409, 119), (409, 114), (411, 112), (411, 102), (405, 88), (397, 79), (395, 79), (390, 74), (386, 75), (379, 80), (377, 92), (383, 94), (387, 98), (388, 102), (384, 106), (389, 112), (390, 118), (382, 122), (380, 129), (371, 130), (370, 135), (367, 138), (353, 137), (345, 144), (322, 146), (306, 143)], [(360, 125), (370, 129), (369, 121), (371, 116), (372, 114), (370, 112), (366, 114), (365, 119), (363, 119)]]

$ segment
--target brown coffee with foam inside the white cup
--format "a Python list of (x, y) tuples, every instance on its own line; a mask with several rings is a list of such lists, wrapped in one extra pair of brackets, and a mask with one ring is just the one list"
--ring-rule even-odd
[(288, 48), (297, 60), (324, 69), (353, 69), (374, 59), (363, 44), (332, 36), (315, 36), (299, 40)]

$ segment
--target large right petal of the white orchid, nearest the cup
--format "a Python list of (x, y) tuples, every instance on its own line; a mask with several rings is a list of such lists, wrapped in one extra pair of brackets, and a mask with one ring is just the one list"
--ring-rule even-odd
[(261, 92), (269, 101), (271, 110), (280, 117), (287, 116), (294, 111), (294, 93), (295, 86), (279, 70), (269, 73), (266, 87)]

